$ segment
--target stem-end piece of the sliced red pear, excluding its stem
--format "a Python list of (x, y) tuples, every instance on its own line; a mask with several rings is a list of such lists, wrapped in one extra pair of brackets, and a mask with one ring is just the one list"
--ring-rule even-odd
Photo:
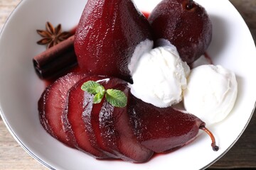
[(174, 108), (157, 108), (130, 95), (129, 117), (137, 140), (154, 152), (167, 152), (186, 145), (204, 123)]

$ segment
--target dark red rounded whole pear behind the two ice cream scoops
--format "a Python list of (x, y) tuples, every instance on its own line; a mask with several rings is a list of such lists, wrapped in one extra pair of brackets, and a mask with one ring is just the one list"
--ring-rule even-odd
[(191, 0), (163, 0), (151, 12), (154, 39), (175, 45), (188, 64), (206, 52), (212, 38), (212, 23), (203, 6)]

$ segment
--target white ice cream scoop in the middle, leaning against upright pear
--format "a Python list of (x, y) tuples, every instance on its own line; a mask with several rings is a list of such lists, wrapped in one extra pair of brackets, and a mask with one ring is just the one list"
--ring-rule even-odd
[(190, 69), (174, 45), (156, 47), (144, 53), (132, 73), (131, 92), (146, 103), (163, 108), (182, 100)]

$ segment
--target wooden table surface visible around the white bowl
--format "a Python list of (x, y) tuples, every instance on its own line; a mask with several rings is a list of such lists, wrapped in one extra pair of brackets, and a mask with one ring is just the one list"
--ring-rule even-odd
[[(21, 0), (0, 0), (0, 29), (6, 18)], [(240, 11), (252, 36), (256, 40), (256, 1), (255, 0), (230, 0)], [(255, 56), (256, 57), (256, 56)], [(256, 169), (256, 113), (240, 140), (230, 151), (209, 169)], [(198, 158), (200, 159), (200, 158)], [(38, 170), (46, 169), (31, 156), (29, 156), (11, 136), (3, 120), (0, 118), (0, 169)]]

